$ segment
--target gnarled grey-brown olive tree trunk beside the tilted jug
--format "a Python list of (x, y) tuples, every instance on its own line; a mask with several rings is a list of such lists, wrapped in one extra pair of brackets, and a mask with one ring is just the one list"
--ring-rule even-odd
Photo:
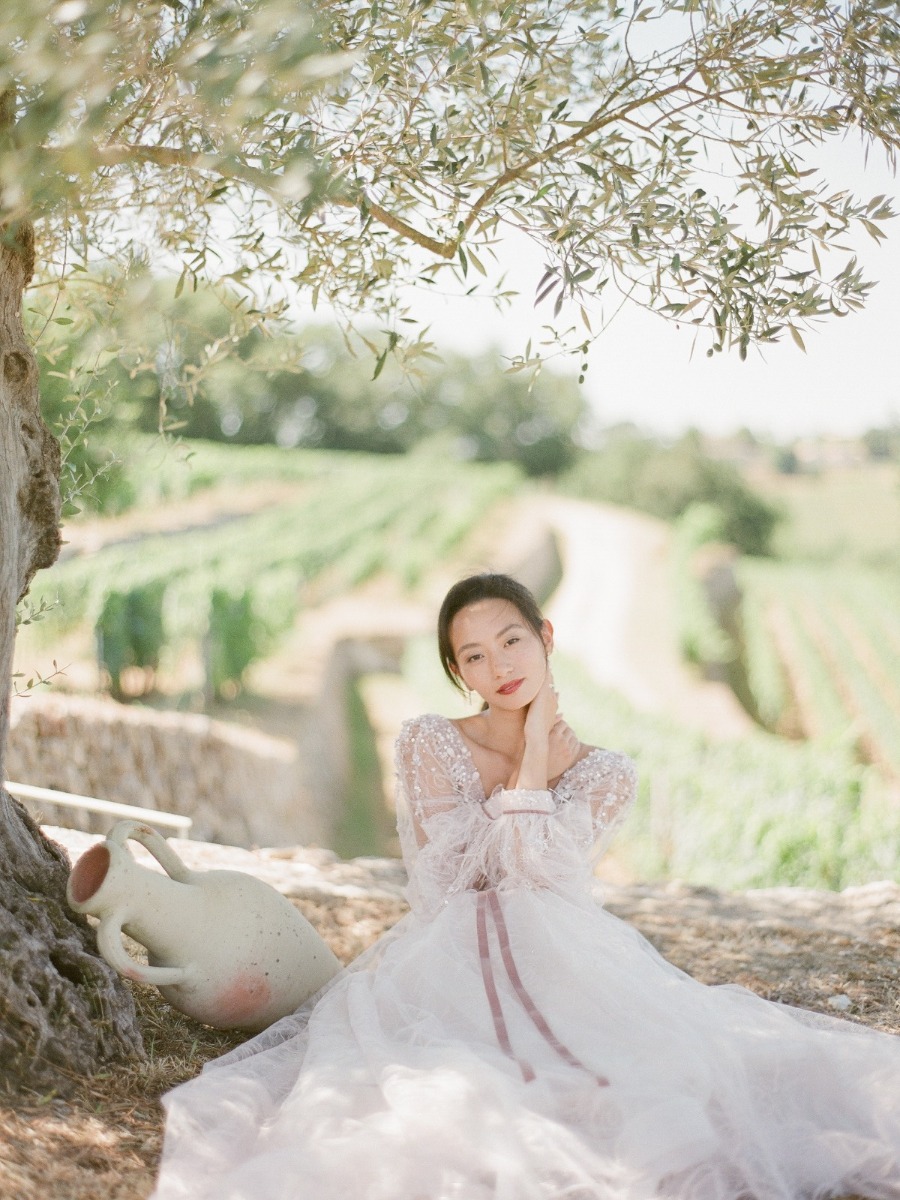
[[(0, 781), (10, 726), (16, 605), (59, 553), (59, 444), (41, 419), (22, 326), (31, 227), (0, 230)], [(22, 701), (28, 703), (28, 701)], [(0, 787), (0, 1081), (65, 1091), (143, 1055), (131, 992), (66, 904), (68, 864)]]

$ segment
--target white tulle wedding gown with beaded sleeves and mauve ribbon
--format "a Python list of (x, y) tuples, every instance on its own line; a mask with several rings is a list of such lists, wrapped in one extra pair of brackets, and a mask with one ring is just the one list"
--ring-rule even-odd
[(156, 1200), (900, 1198), (900, 1039), (696, 983), (593, 899), (628, 757), (486, 799), (430, 715), (397, 767), (412, 912), (166, 1097)]

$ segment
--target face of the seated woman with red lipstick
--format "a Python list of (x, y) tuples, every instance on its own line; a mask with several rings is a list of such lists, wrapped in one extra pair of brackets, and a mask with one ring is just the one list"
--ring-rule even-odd
[(544, 682), (552, 640), (550, 622), (539, 637), (509, 600), (479, 600), (450, 623), (458, 676), (491, 708), (530, 704)]

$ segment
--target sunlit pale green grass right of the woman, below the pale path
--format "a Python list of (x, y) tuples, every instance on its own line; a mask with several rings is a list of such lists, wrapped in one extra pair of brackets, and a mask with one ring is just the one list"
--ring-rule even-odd
[(638, 800), (619, 835), (637, 877), (725, 888), (900, 880), (900, 808), (847, 739), (710, 740), (635, 712), (559, 654), (553, 670), (582, 739), (637, 763)]

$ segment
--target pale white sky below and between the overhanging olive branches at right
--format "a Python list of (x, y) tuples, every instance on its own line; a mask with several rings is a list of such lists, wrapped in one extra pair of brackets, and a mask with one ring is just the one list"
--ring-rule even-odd
[[(883, 160), (882, 151), (870, 151), (864, 164), (852, 142), (822, 154), (829, 181), (865, 199), (898, 196), (898, 179)], [(632, 420), (660, 433), (690, 425), (727, 433), (745, 425), (780, 439), (857, 433), (900, 420), (900, 218), (884, 228), (888, 238), (880, 245), (862, 233), (853, 242), (865, 276), (878, 281), (869, 304), (804, 334), (805, 354), (787, 336), (762, 355), (751, 348), (746, 362), (736, 352), (707, 359), (710, 338), (703, 331), (691, 359), (692, 326), (678, 330), (625, 305), (589, 355), (584, 392), (592, 407), (604, 424)], [(511, 355), (522, 353), (529, 337), (540, 338), (550, 319), (548, 306), (533, 305), (541, 257), (524, 239), (516, 240), (504, 266), (520, 292), (505, 313), (487, 300), (416, 292), (415, 316), (431, 323), (438, 344), (473, 352), (494, 344)], [(596, 328), (596, 314), (590, 316)]]

